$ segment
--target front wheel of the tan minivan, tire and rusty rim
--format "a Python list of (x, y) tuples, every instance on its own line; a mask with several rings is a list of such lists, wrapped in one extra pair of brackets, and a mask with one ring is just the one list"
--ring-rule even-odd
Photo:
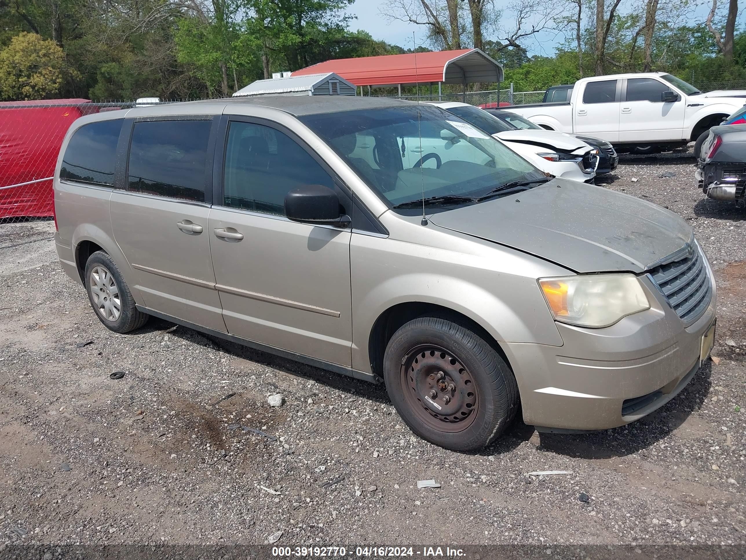
[(407, 426), (433, 444), (476, 451), (501, 435), (518, 408), (518, 385), (500, 353), (443, 317), (418, 317), (389, 340), (389, 396)]

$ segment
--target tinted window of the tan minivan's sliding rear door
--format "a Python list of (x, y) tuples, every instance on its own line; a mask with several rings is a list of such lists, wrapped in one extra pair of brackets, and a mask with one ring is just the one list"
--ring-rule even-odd
[(128, 189), (204, 202), (210, 120), (136, 122)]

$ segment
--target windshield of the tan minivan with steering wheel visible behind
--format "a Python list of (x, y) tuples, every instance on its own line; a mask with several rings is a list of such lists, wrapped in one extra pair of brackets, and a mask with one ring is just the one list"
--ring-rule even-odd
[(422, 199), (426, 205), (468, 204), (547, 180), (489, 134), (432, 105), (299, 118), (392, 208)]

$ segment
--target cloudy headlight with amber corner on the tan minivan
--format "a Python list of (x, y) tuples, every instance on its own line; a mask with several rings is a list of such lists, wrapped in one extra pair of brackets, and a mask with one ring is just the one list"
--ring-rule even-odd
[(632, 274), (588, 274), (539, 279), (554, 318), (562, 323), (612, 326), (622, 317), (650, 308), (648, 296)]

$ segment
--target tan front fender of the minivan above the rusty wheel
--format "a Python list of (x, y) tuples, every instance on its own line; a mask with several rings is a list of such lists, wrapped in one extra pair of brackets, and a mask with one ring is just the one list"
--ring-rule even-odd
[[(511, 249), (462, 251), (357, 237), (351, 246), (353, 367), (369, 372), (369, 340), (377, 319), (401, 303), (456, 311), (498, 343), (562, 346), (562, 337), (536, 278), (561, 269)], [(474, 249), (473, 254), (468, 250)], [(480, 251), (481, 249), (481, 251)], [(481, 254), (480, 254), (481, 252)], [(524, 271), (523, 274), (514, 271)]]

